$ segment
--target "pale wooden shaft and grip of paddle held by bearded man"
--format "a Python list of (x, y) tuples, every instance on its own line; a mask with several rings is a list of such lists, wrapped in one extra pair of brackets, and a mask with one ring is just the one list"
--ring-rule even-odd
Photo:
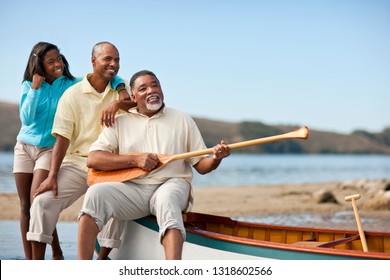
[[(288, 133), (263, 137), (263, 138), (259, 138), (259, 139), (249, 140), (249, 141), (238, 142), (238, 143), (234, 143), (234, 144), (229, 144), (228, 147), (230, 150), (235, 150), (235, 149), (240, 149), (240, 148), (245, 148), (245, 147), (250, 147), (250, 146), (255, 146), (255, 145), (261, 145), (261, 144), (266, 144), (266, 143), (280, 141), (280, 140), (307, 139), (308, 137), (309, 137), (309, 129), (307, 128), (307, 126), (302, 126), (301, 128), (294, 130), (294, 131), (291, 131), (291, 132), (288, 132)], [(213, 153), (213, 148), (195, 151), (195, 152), (177, 154), (177, 155), (174, 155), (170, 161), (178, 160), (178, 159), (186, 159), (186, 158), (191, 158), (191, 157), (197, 157), (197, 156), (203, 156), (203, 155), (209, 155), (212, 153)]]

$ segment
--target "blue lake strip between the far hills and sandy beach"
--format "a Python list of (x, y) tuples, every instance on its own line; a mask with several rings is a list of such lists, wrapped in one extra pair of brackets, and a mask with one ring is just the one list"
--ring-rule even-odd
[[(13, 154), (0, 153), (0, 193), (16, 192)], [(194, 172), (195, 188), (334, 182), (390, 177), (390, 155), (232, 154), (207, 175)]]

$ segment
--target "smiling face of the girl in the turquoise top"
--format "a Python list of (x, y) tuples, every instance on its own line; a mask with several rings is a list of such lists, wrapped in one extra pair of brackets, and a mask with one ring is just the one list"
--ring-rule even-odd
[(51, 84), (64, 73), (64, 62), (61, 54), (56, 49), (48, 51), (42, 60), (46, 82)]

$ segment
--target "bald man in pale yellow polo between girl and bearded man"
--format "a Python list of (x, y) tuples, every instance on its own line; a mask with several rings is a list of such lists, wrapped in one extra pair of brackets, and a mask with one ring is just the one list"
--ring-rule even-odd
[[(108, 42), (96, 44), (92, 50), (93, 73), (70, 87), (59, 101), (52, 134), (56, 136), (48, 178), (34, 194), (27, 239), (32, 241), (33, 259), (44, 259), (46, 244), (62, 210), (69, 207), (88, 189), (86, 161), (90, 145), (103, 129), (103, 108), (113, 117), (129, 103), (118, 100), (118, 91), (110, 81), (119, 71), (119, 52)], [(125, 104), (126, 103), (126, 104)], [(109, 121), (109, 120), (108, 120)]]

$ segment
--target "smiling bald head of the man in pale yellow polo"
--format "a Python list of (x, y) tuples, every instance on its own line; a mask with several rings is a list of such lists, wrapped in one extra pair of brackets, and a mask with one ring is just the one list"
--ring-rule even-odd
[(111, 44), (103, 43), (94, 49), (92, 56), (94, 75), (110, 81), (119, 71), (119, 52)]

